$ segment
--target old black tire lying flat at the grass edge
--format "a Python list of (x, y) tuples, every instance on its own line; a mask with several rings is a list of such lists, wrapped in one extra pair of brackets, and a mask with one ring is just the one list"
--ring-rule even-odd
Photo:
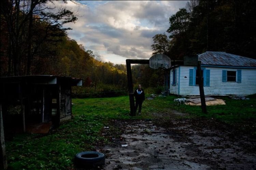
[(100, 152), (86, 151), (75, 155), (75, 165), (79, 168), (95, 168), (105, 164), (105, 155)]

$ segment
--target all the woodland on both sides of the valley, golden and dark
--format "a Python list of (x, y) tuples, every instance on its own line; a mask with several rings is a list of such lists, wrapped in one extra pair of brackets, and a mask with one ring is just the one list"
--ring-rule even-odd
[[(65, 1), (61, 1), (65, 3)], [(67, 35), (63, 24), (77, 14), (49, 8), (52, 1), (0, 1), (0, 76), (57, 75), (83, 79), (73, 92), (83, 96), (127, 94), (126, 65), (101, 62)], [(172, 60), (205, 51), (225, 51), (256, 58), (255, 0), (196, 0), (170, 16), (167, 34), (153, 37), (153, 55)], [(149, 56), (148, 58), (150, 58)], [(163, 89), (164, 71), (133, 65), (134, 87)], [(113, 92), (113, 93), (112, 93)], [(148, 91), (149, 92), (149, 91)], [(150, 92), (151, 93), (151, 92)]]

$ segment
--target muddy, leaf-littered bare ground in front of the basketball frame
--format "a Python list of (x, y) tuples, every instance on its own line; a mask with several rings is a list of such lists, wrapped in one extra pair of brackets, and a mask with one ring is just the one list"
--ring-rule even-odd
[[(179, 117), (179, 118), (177, 118)], [(100, 169), (256, 169), (256, 139), (216, 120), (156, 113), (155, 119), (112, 120), (102, 131), (112, 142)]]

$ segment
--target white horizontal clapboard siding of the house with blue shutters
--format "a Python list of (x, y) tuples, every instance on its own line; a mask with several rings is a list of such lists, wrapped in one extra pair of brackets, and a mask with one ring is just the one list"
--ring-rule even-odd
[[(179, 70), (179, 68), (176, 69)], [(180, 76), (178, 76), (179, 74), (177, 74), (177, 83), (179, 83), (178, 78), (180, 77), (180, 84), (177, 84), (175, 88), (170, 86), (170, 93), (179, 95), (200, 95), (198, 86), (188, 85), (189, 69), (194, 69), (194, 67), (180, 66)], [(206, 67), (206, 69), (210, 69), (210, 87), (204, 87), (205, 95), (249, 95), (256, 93), (256, 69), (241, 69), (241, 83), (222, 82), (223, 70), (237, 71), (240, 68), (234, 69)], [(179, 71), (177, 73), (179, 73)], [(170, 81), (172, 82), (172, 72), (170, 76)]]

